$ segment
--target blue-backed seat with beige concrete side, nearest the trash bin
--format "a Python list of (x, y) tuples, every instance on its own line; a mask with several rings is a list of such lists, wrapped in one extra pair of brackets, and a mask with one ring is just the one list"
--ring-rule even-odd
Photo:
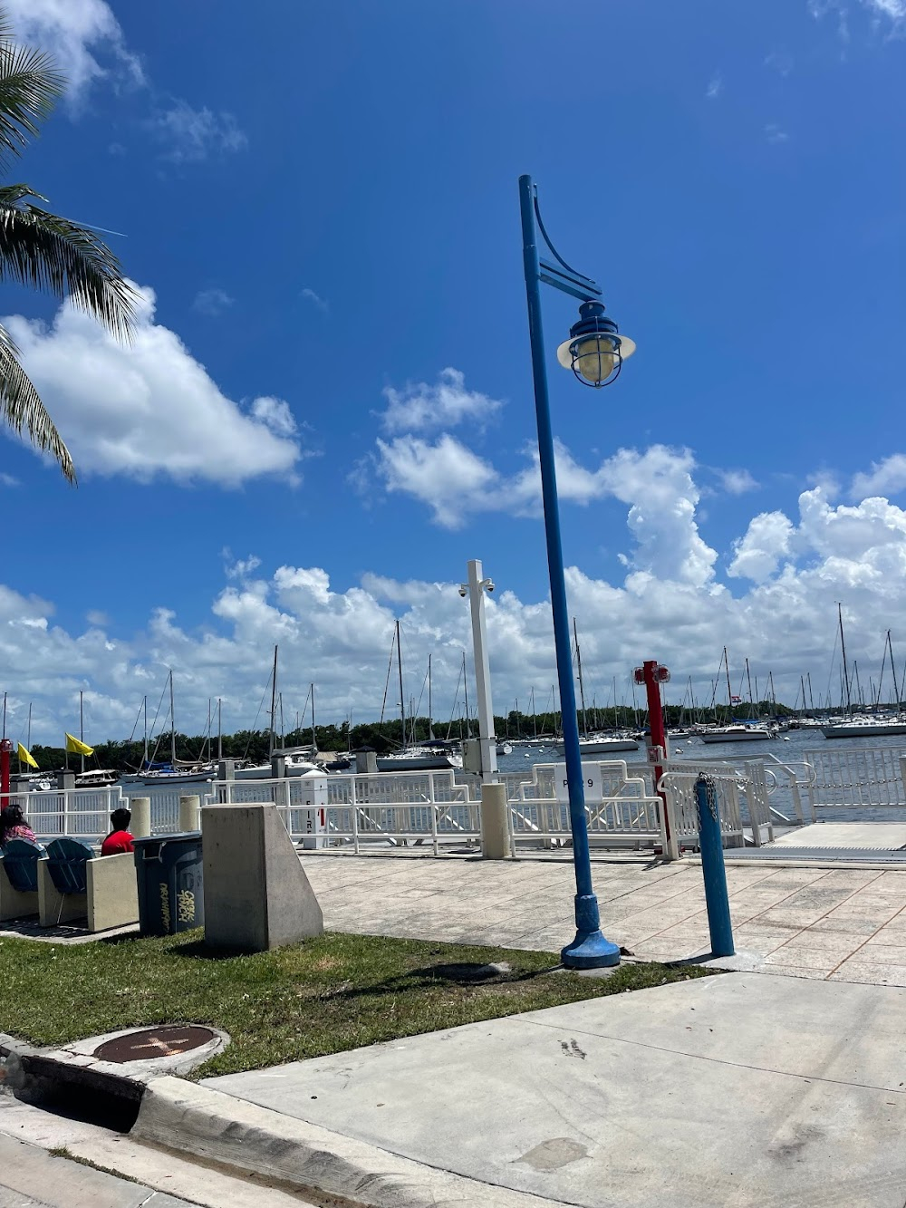
[(132, 852), (97, 856), (87, 843), (56, 838), (37, 865), (41, 927), (88, 919), (89, 931), (139, 920), (139, 893)]

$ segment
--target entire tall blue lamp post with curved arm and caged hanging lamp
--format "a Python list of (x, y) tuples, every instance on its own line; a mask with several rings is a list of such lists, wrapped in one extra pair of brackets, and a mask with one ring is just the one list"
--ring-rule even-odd
[[(567, 757), (569, 823), (573, 831), (573, 861), (576, 875), (576, 935), (573, 942), (568, 943), (561, 952), (561, 959), (568, 969), (600, 969), (620, 964), (620, 948), (602, 935), (598, 899), (592, 889), (582, 759), (579, 748), (579, 721), (573, 684), (573, 651), (569, 644), (567, 583), (563, 575), (551, 403), (547, 395), (547, 368), (541, 329), (541, 283), (553, 285), (554, 289), (571, 294), (580, 300), (579, 321), (570, 327), (569, 339), (557, 349), (557, 359), (561, 365), (571, 368), (580, 382), (592, 387), (608, 385), (614, 382), (620, 374), (623, 360), (633, 354), (635, 345), (626, 336), (620, 335), (612, 319), (605, 318), (604, 304), (600, 301), (602, 291), (594, 281), (575, 272), (557, 254), (544, 228), (538, 208), (538, 190), (530, 176), (519, 176), (519, 203), (529, 336), (532, 339), (532, 372), (535, 382), (538, 452), (541, 461), (541, 495), (547, 538), (547, 567), (551, 576), (553, 638), (563, 715), (563, 745)], [(539, 257), (538, 231), (540, 231), (553, 261)]]

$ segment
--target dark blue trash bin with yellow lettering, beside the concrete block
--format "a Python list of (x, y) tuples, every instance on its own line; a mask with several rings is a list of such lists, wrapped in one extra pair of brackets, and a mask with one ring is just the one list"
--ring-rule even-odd
[(176, 935), (204, 925), (202, 832), (134, 841), (143, 935)]

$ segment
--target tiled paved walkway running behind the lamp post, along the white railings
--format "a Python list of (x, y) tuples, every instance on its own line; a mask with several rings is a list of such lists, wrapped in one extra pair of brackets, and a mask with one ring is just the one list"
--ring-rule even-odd
[[(573, 865), (306, 854), (331, 930), (558, 951)], [(701, 866), (596, 860), (605, 935), (651, 960), (708, 951)], [(906, 986), (906, 870), (727, 865), (737, 952), (762, 972)]]

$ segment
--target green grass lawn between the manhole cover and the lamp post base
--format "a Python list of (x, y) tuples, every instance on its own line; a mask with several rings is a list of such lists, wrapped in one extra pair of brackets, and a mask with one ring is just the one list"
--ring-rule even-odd
[[(337, 933), (275, 952), (213, 956), (202, 935), (4, 939), (0, 1030), (58, 1045), (141, 1024), (210, 1023), (233, 1043), (199, 1073), (233, 1074), (705, 975), (625, 964), (610, 977), (579, 977), (554, 972), (558, 958), (544, 952)], [(510, 971), (474, 980), (469, 966), (499, 962)]]

